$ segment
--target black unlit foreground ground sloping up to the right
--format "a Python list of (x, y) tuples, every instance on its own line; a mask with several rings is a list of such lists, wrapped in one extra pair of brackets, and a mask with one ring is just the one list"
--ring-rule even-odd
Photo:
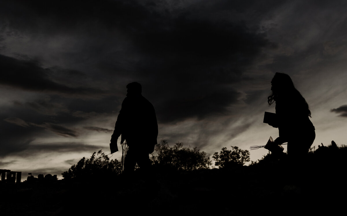
[[(3, 215), (336, 215), (347, 192), (345, 163), (325, 161), (295, 182), (281, 163), (195, 171), (136, 170), (44, 184), (1, 186)], [(294, 184), (295, 183), (295, 184)], [(342, 198), (340, 198), (342, 197)]]

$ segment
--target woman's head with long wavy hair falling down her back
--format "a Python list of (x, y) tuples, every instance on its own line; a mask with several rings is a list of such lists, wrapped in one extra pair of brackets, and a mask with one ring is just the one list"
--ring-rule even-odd
[(274, 101), (288, 100), (293, 98), (295, 103), (303, 106), (303, 109), (307, 110), (307, 115), (311, 117), (311, 111), (308, 109), (308, 104), (305, 98), (300, 94), (300, 92), (294, 87), (293, 81), (288, 74), (276, 73), (271, 81), (271, 94), (268, 96), (269, 106), (273, 104)]

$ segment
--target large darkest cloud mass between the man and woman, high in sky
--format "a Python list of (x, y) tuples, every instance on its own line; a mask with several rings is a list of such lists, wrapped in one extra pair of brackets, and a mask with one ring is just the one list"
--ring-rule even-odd
[(150, 96), (161, 123), (230, 114), (228, 107), (239, 103), (232, 85), (270, 46), (265, 35), (242, 23), (197, 19), (192, 13), (157, 14), (157, 22), (149, 16), (154, 25), (135, 25), (131, 33), (141, 55), (134, 81)]

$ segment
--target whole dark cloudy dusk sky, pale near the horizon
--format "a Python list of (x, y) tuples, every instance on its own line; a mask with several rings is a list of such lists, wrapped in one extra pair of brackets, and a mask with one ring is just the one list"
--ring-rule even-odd
[[(278, 136), (262, 121), (274, 112), (274, 73), (287, 73), (310, 105), (313, 145), (346, 144), (346, 9), (315, 0), (1, 1), (0, 168), (59, 175), (109, 153), (134, 81), (155, 107), (158, 141), (211, 155)], [(252, 150), (251, 160), (266, 153)]]

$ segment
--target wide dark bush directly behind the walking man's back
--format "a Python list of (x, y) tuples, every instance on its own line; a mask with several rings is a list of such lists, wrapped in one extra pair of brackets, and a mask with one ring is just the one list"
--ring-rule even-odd
[(155, 153), (152, 154), (153, 166), (170, 170), (198, 170), (208, 169), (212, 162), (210, 157), (206, 157), (206, 152), (200, 151), (197, 147), (193, 149), (183, 147), (183, 143), (178, 142), (170, 147), (166, 140), (161, 140), (155, 145)]

